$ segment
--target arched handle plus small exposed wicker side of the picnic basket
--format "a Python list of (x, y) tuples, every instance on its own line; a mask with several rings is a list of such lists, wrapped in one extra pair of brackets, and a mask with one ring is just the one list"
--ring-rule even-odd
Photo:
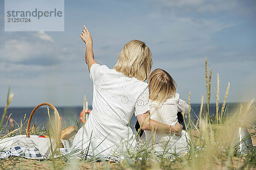
[[(39, 105), (37, 105), (33, 111), (31, 112), (30, 116), (29, 116), (29, 121), (28, 121), (28, 125), (27, 125), (27, 128), (26, 128), (26, 137), (27, 138), (30, 138), (30, 135), (29, 135), (29, 127), (30, 127), (30, 123), (31, 123), (31, 120), (32, 120), (32, 117), (35, 113), (35, 111), (40, 108), (41, 106), (49, 106), (51, 107), (53, 110), (54, 110), (54, 114), (55, 114), (55, 119), (57, 119), (57, 135), (55, 136), (55, 140), (56, 140), (56, 143), (57, 143), (57, 147), (63, 147), (63, 144), (60, 140), (61, 138), (61, 119), (60, 119), (60, 115), (57, 111), (57, 109), (50, 103), (41, 103)], [(57, 142), (58, 141), (58, 142)], [(59, 146), (58, 146), (59, 144)]]

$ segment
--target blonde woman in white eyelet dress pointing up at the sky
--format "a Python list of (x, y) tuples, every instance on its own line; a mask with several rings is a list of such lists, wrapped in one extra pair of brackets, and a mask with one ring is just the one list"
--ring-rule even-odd
[(108, 157), (112, 153), (134, 148), (135, 135), (128, 126), (132, 114), (143, 130), (180, 135), (182, 125), (166, 125), (149, 116), (148, 79), (152, 57), (144, 42), (132, 40), (119, 54), (113, 69), (99, 65), (93, 56), (93, 41), (88, 29), (80, 35), (86, 44), (85, 60), (93, 81), (93, 109), (87, 122), (73, 140), (73, 146), (96, 157)]

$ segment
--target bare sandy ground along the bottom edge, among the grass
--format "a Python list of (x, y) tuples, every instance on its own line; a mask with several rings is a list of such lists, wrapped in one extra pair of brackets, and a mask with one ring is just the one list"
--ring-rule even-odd
[[(251, 138), (253, 141), (253, 145), (256, 144), (256, 130), (248, 129), (248, 131), (251, 133)], [(198, 132), (193, 131), (192, 139), (195, 142), (195, 139), (198, 137)], [(223, 160), (221, 160), (223, 161)], [(215, 170), (224, 170), (226, 169), (225, 161), (221, 163), (221, 161), (214, 161), (212, 162), (212, 166), (214, 166)], [(235, 168), (239, 169), (239, 167), (244, 166), (246, 159), (239, 158), (239, 157), (232, 157), (232, 162), (229, 166), (229, 168)], [(24, 159), (19, 157), (11, 157), (8, 159), (0, 159), (0, 164), (3, 169), (23, 169), (23, 170), (52, 170), (53, 168), (53, 162), (51, 160), (45, 160), (45, 161), (38, 161), (38, 160), (31, 160), (31, 159)], [(77, 170), (91, 170), (91, 169), (102, 169), (105, 170), (106, 168), (110, 168), (113, 170), (122, 170), (122, 169), (131, 169), (131, 167), (128, 166), (127, 162), (123, 163), (115, 163), (111, 161), (105, 161), (105, 162), (82, 162), (80, 160), (73, 160), (73, 161), (67, 161), (67, 162), (61, 162), (60, 159), (55, 160), (55, 169), (77, 169)], [(177, 159), (176, 161), (145, 161), (145, 164), (143, 164), (143, 169), (148, 170), (154, 170), (154, 169), (169, 169), (171, 166), (171, 169), (180, 169), (183, 168), (183, 166), (180, 164), (180, 160)], [(203, 168), (204, 166), (202, 166)], [(140, 164), (135, 164), (135, 169), (140, 169)], [(207, 168), (207, 166), (205, 166)], [(189, 170), (189, 168), (184, 168)], [(256, 167), (252, 167), (250, 169), (256, 169)]]

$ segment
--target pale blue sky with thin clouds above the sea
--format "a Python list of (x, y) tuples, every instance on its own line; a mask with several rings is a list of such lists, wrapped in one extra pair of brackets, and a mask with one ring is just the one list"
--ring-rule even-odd
[(126, 42), (143, 40), (153, 54), (153, 69), (163, 68), (177, 92), (198, 103), (205, 95), (204, 60), (213, 67), (212, 102), (217, 73), (220, 101), (228, 82), (228, 102), (256, 97), (256, 3), (253, 0), (65, 0), (65, 31), (5, 32), (0, 1), (0, 106), (8, 85), (11, 106), (89, 103), (93, 86), (84, 63), (79, 34), (86, 25), (97, 62), (110, 68)]

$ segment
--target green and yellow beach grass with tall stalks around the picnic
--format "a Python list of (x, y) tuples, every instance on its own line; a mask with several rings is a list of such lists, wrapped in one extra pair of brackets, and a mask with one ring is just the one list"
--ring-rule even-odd
[[(188, 141), (190, 150), (188, 153), (175, 154), (169, 156), (168, 151), (166, 153), (156, 153), (151, 146), (147, 144), (139, 143), (139, 147), (134, 151), (127, 150), (123, 155), (124, 159), (121, 162), (105, 161), (97, 159), (93, 156), (88, 156), (88, 152), (85, 152), (83, 158), (72, 159), (69, 156), (62, 156), (58, 159), (48, 160), (29, 160), (19, 157), (11, 157), (8, 159), (0, 159), (0, 169), (20, 169), (20, 170), (33, 170), (33, 169), (102, 169), (102, 170), (236, 170), (236, 169), (256, 169), (256, 149), (244, 154), (239, 152), (239, 144), (237, 140), (237, 128), (247, 128), (250, 133), (253, 144), (256, 144), (256, 126), (253, 124), (256, 117), (256, 107), (254, 100), (239, 105), (239, 109), (230, 111), (228, 113), (228, 94), (230, 89), (230, 83), (227, 85), (226, 93), (224, 94), (224, 101), (219, 103), (219, 75), (217, 74), (217, 87), (215, 92), (215, 105), (216, 111), (210, 113), (209, 103), (211, 96), (211, 84), (212, 84), (212, 68), (207, 74), (207, 58), (205, 62), (205, 80), (206, 80), (206, 98), (202, 96), (201, 107), (199, 117), (195, 120), (191, 119), (192, 112), (189, 113), (189, 117), (186, 120), (188, 127), (188, 133), (191, 140)], [(12, 96), (7, 97), (8, 109)], [(206, 99), (206, 103), (204, 103)], [(189, 93), (190, 104), (190, 93)], [(221, 109), (219, 108), (221, 106)], [(4, 116), (6, 116), (6, 111)], [(232, 112), (232, 114), (231, 114)], [(49, 120), (50, 114), (49, 114)], [(26, 116), (21, 120), (18, 128), (11, 134), (4, 133), (6, 126), (1, 129), (0, 136), (9, 137), (19, 133), (23, 134), (23, 125), (26, 122)], [(49, 121), (49, 125), (37, 127), (34, 134), (48, 134), (54, 137), (54, 128), (51, 128), (52, 122)], [(80, 128), (80, 123), (75, 119), (70, 119), (71, 124), (76, 125), (77, 129)], [(1, 126), (3, 121), (1, 121)], [(62, 127), (64, 128), (64, 127)], [(154, 135), (152, 135), (154, 136)], [(247, 136), (248, 137), (248, 136)], [(253, 149), (253, 148), (252, 148)], [(52, 151), (53, 152), (53, 151)], [(86, 158), (86, 159), (84, 159)]]

